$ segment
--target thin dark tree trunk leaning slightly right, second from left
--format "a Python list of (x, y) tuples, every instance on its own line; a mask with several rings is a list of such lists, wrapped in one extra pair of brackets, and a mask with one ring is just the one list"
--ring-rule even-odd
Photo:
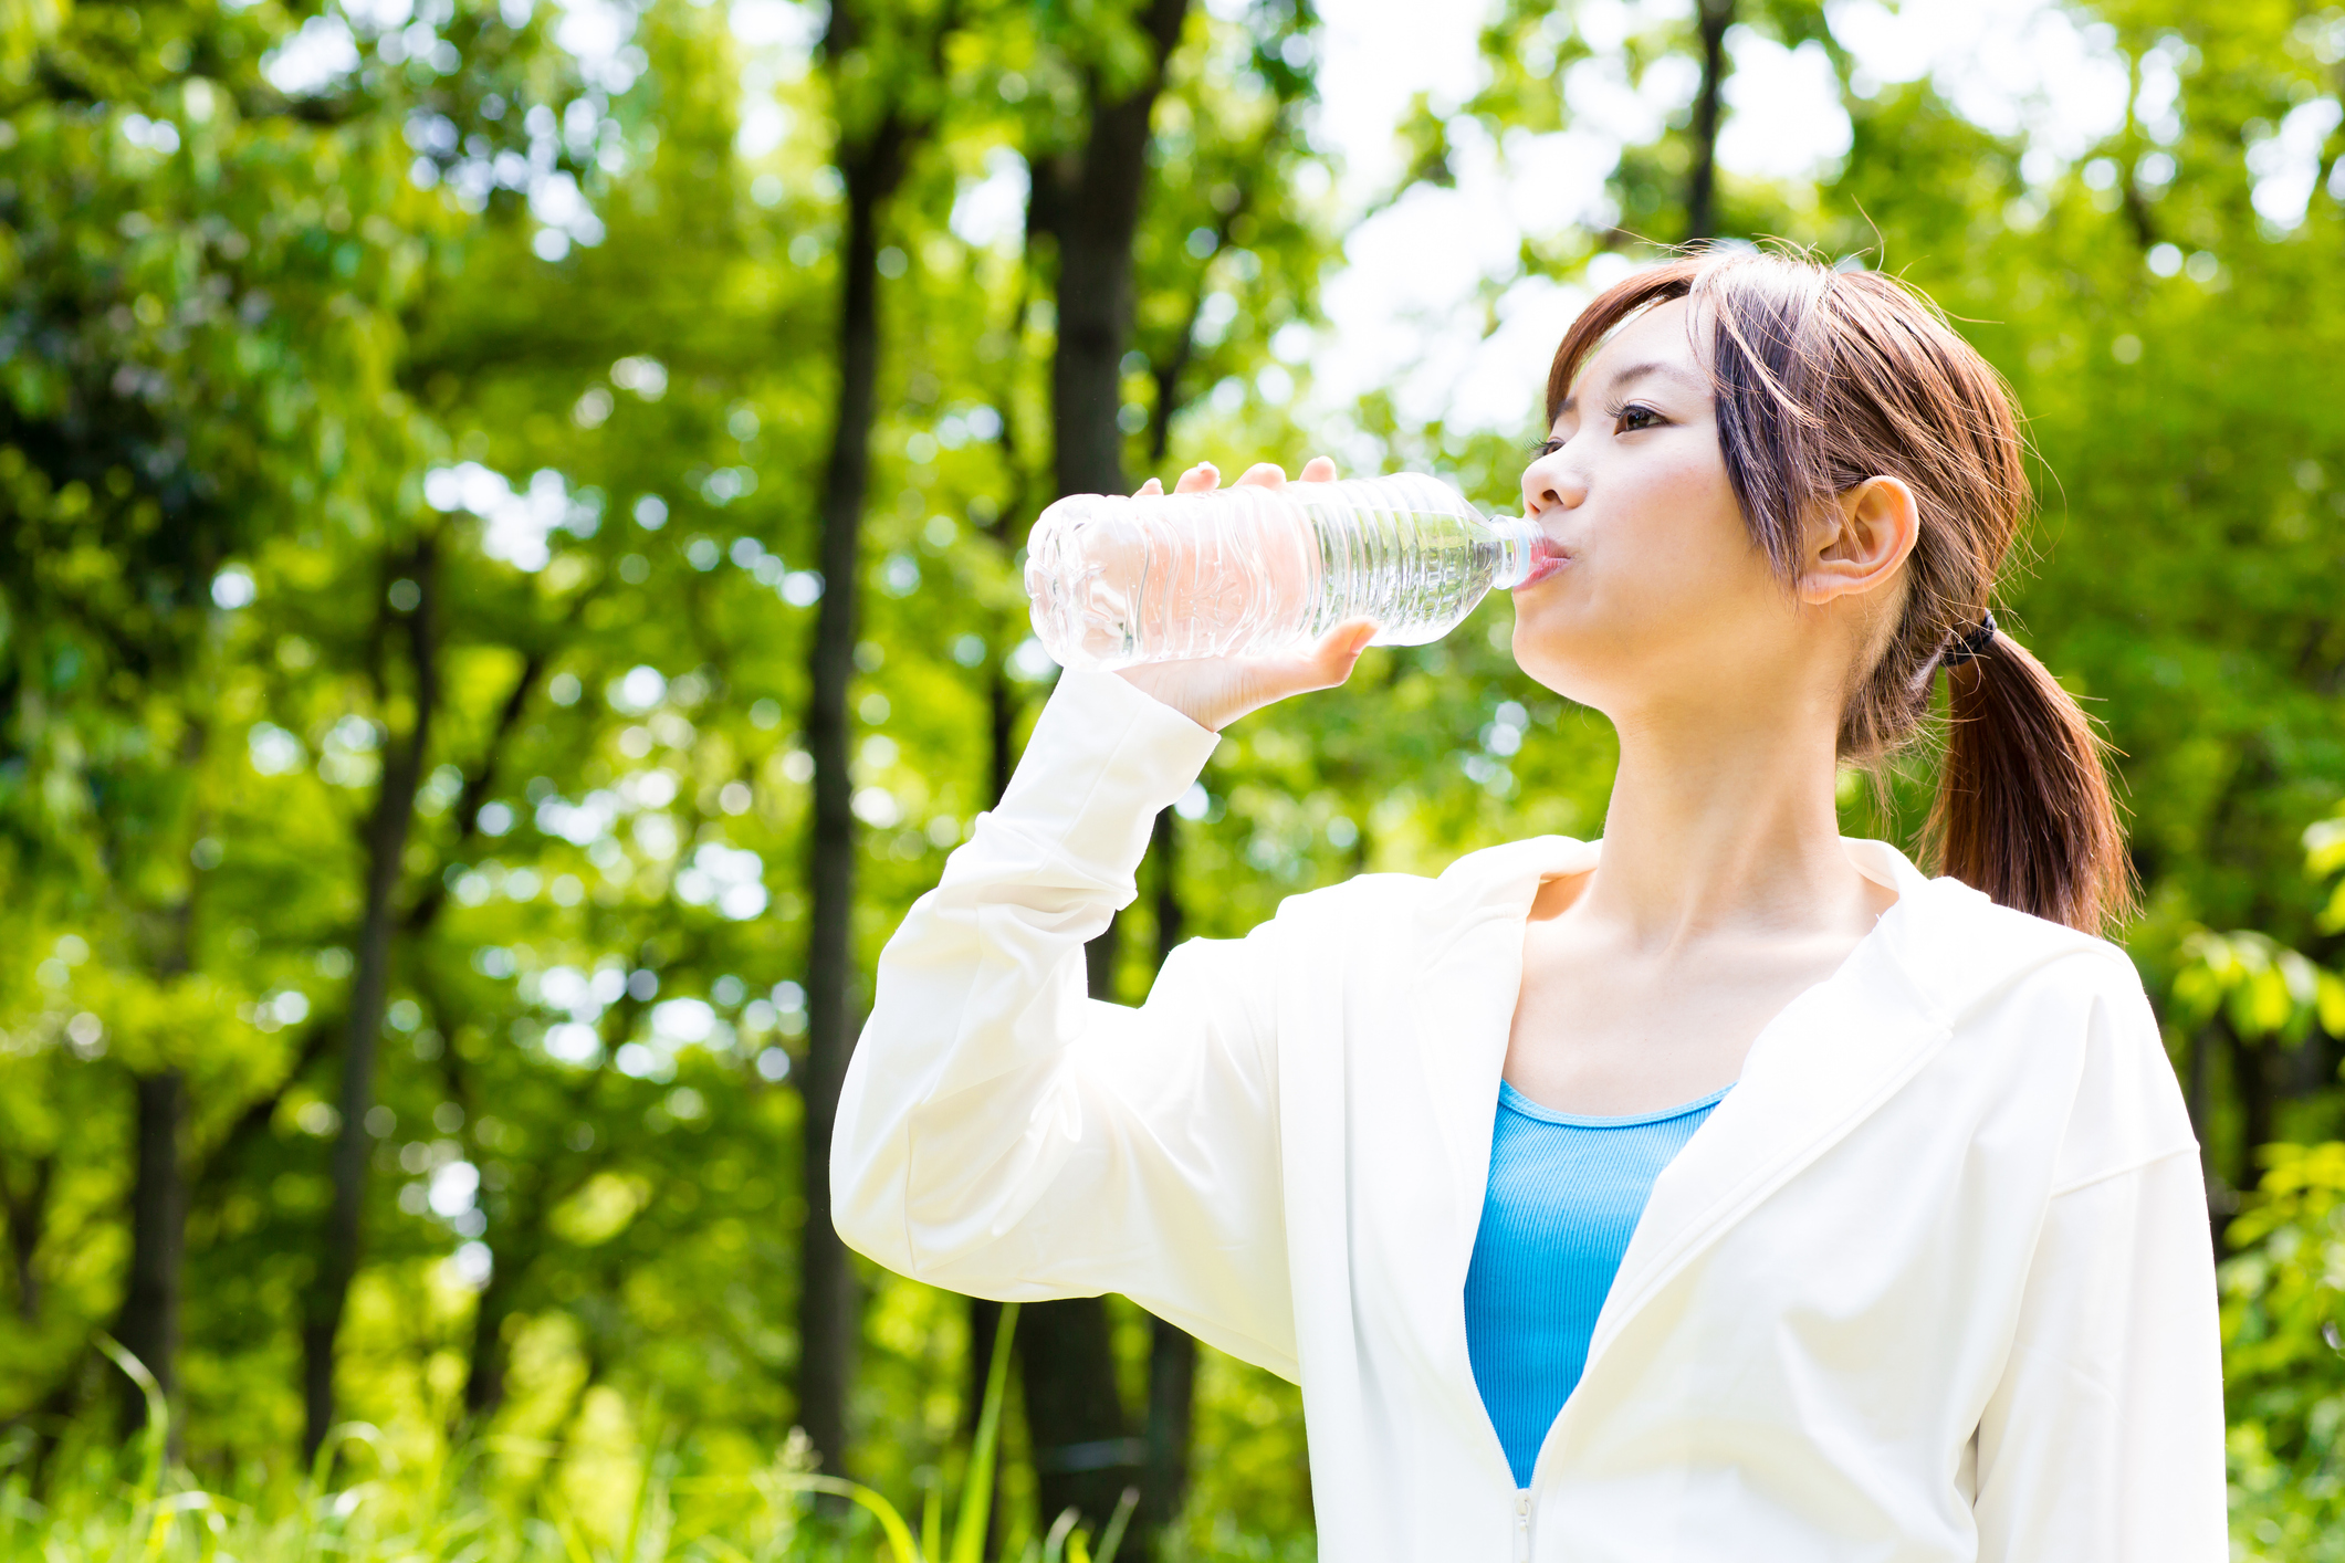
[(439, 710), (439, 569), (436, 546), (424, 539), (406, 562), (420, 588), (406, 614), (415, 670), (415, 719), (403, 743), (385, 743), (382, 783), (366, 823), (366, 909), (359, 921), (356, 970), (349, 982), (349, 1036), (342, 1047), (342, 1129), (333, 1141), (333, 1207), (326, 1214), (319, 1275), (310, 1284), (303, 1322), (303, 1458), (314, 1460), (333, 1427), (333, 1347), (359, 1275), (366, 1167), (373, 1134), (366, 1115), (375, 1106), (375, 1057), (382, 1043), (382, 1010), (392, 987), (392, 933), (399, 916), (401, 865), (415, 820), (415, 787), (431, 745)]

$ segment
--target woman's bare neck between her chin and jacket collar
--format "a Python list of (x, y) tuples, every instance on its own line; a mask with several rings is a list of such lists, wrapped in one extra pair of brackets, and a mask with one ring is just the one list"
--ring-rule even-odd
[(1881, 890), (1841, 851), (1834, 806), (1836, 701), (1702, 701), (1616, 726), (1590, 916), (1644, 949), (1871, 926)]

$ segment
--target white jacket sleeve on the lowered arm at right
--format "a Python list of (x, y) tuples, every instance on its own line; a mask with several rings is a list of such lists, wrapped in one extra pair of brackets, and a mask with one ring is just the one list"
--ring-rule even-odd
[(2078, 1108), (1979, 1422), (1982, 1563), (2223, 1563), (2223, 1361), (2197, 1141), (2139, 977)]

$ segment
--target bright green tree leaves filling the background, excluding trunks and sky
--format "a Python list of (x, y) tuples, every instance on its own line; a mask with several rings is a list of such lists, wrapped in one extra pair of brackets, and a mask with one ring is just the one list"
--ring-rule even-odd
[[(1065, 187), (1086, 84), (1151, 61), (1123, 2), (868, 0), (832, 7), (828, 40), (804, 7), (621, 7), (582, 54), (544, 0), (359, 9), (314, 19), (356, 63), (288, 91), (265, 61), (307, 12), (0, 7), (0, 1183), (30, 1254), (0, 1413), (70, 1383), (120, 1305), (129, 1071), (181, 1069), (178, 1425), (227, 1462), (288, 1436), (361, 823), (413, 710), (403, 560), (429, 537), (443, 701), (394, 897), (345, 1392), (417, 1460), (464, 1418), (488, 1427), (483, 1483), (544, 1479), (591, 1554), (638, 1514), (610, 1472), (657, 1458), (600, 1453), (633, 1448), (633, 1408), (689, 1427), (682, 1481), (713, 1483), (762, 1472), (793, 1418), (800, 724), (816, 602), (840, 586), (814, 553), (835, 152), (891, 112), (933, 122), (879, 237), (849, 698), (868, 972), (1048, 687), (1018, 586), (1058, 337), (1029, 199)], [(2211, 1054), (2200, 1101), (2237, 1183), (2251, 1122), (2345, 1122), (2345, 213), (2312, 171), (2303, 220), (2277, 225), (2244, 157), (2333, 96), (2333, 40), (2256, 7), (2099, 14), (2132, 112), (2047, 164), (1928, 77), (1862, 82), (1817, 7), (1742, 5), (1756, 35), (1827, 49), (1853, 148), (1815, 183), (1728, 176), (1719, 213), (1909, 274), (2031, 410), (2045, 513), (2007, 619), (2125, 752), (2153, 905), (2129, 940), (2164, 1022), (2251, 1043), (2251, 1066)], [(1501, 157), (1566, 129), (1583, 63), (1686, 68), (1684, 19), (1609, 37), (1590, 16), (1496, 7), (1475, 98), (1398, 127), (1407, 178), (1463, 166), (1459, 112)], [(1346, 218), (1311, 138), (1318, 42), (1301, 5), (1191, 7), (1147, 127), (1123, 464), (1294, 469), (1316, 389), (1353, 403), (1348, 466), (1440, 471), (1513, 509), (1529, 429), (1311, 387)], [(2333, 143), (2315, 148), (2331, 171)], [(1649, 253), (1623, 230), (1674, 237), (1686, 171), (1681, 122), (1625, 148), (1618, 225), (1534, 234), (1482, 291), (1491, 319), (1456, 328), (1487, 328), (1524, 277), (1578, 286), (1597, 255)], [(1916, 755), (1885, 808), (1853, 787), (1848, 830), (1909, 839), (1925, 783)], [(1609, 785), (1606, 726), (1513, 666), (1491, 602), (1236, 729), (1182, 804), (1172, 909), (1233, 935), (1360, 869), (1590, 837)], [(1149, 980), (1154, 874), (1123, 996)], [(2289, 1528), (2291, 1483), (2317, 1502), (2289, 1514), (2326, 1514), (2315, 1476), (2345, 1415), (2322, 1354), (2345, 1179), (2326, 1151), (2275, 1155), (2232, 1233), (2225, 1317), (2242, 1488)], [(854, 1458), (900, 1497), (959, 1448), (968, 1345), (957, 1303), (868, 1279), (875, 1432)], [(1292, 1397), (1226, 1361), (1203, 1385), (1205, 1507), (1301, 1535)], [(1015, 1427), (999, 1436), (1013, 1458)], [(607, 1523), (605, 1488), (624, 1488)]]

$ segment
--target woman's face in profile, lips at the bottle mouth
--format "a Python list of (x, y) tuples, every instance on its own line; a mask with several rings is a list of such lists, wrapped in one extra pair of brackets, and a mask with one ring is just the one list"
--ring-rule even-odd
[(1799, 633), (1726, 480), (1695, 321), (1672, 300), (1623, 326), (1522, 473), (1524, 516), (1562, 567), (1515, 591), (1515, 661), (1613, 719), (1780, 675)]

